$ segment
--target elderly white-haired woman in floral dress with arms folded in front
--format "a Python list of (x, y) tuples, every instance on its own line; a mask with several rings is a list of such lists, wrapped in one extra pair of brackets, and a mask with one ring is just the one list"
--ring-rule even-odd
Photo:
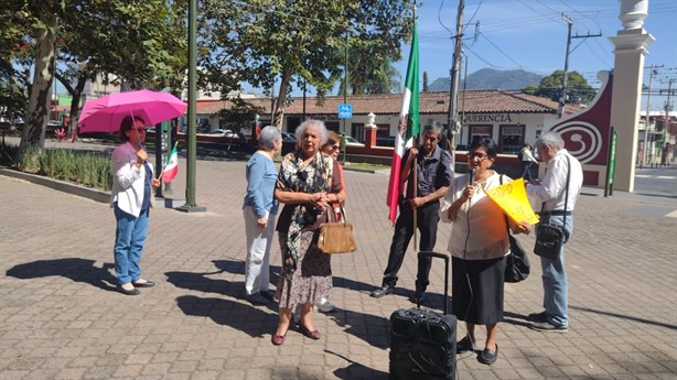
[(280, 316), (271, 339), (276, 346), (284, 344), (295, 304), (301, 304), (299, 330), (320, 339), (312, 307), (332, 290), (331, 257), (315, 247), (320, 225), (327, 221), (329, 205), (341, 200), (343, 188), (336, 161), (320, 150), (326, 133), (322, 121), (301, 123), (295, 132), (298, 150), (284, 156), (278, 175), (275, 197), (284, 207), (277, 225), (282, 271), (276, 293)]

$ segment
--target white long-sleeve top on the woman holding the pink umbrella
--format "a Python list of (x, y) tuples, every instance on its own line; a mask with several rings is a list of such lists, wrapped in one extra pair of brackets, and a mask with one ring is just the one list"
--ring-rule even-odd
[[(118, 207), (129, 215), (138, 217), (141, 214), (143, 202), (143, 181), (146, 167), (137, 167), (137, 151), (133, 145), (126, 142), (112, 151), (112, 188), (110, 191), (110, 207), (117, 202)], [(148, 162), (151, 170), (153, 165)], [(151, 194), (152, 197), (152, 194)]]

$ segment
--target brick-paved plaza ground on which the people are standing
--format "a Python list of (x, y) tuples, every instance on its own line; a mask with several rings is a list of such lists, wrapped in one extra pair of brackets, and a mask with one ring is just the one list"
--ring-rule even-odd
[[(172, 184), (180, 193), (185, 167), (181, 160)], [(292, 328), (276, 347), (277, 306), (244, 301), (244, 172), (241, 161), (198, 160), (196, 199), (206, 213), (151, 213), (142, 269), (158, 285), (139, 296), (115, 290), (107, 204), (0, 175), (0, 379), (388, 379), (388, 318), (412, 307), (416, 256), (409, 247), (394, 295), (369, 297), (393, 234), (387, 173), (346, 171), (359, 249), (332, 258), (337, 307), (314, 316), (320, 340)], [(456, 379), (677, 379), (677, 199), (605, 198), (585, 187), (574, 218), (569, 333), (527, 327), (542, 294), (530, 256), (530, 276), (506, 284), (497, 362), (458, 356)], [(440, 225), (438, 251), (449, 231)], [(534, 237), (519, 239), (530, 250)], [(271, 264), (275, 289), (277, 238)], [(442, 283), (438, 262), (429, 287), (436, 310)]]

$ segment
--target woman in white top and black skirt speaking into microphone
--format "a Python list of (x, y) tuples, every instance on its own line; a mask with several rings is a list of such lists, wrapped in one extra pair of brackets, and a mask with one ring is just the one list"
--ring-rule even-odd
[[(486, 189), (511, 181), (507, 176), (502, 181), (501, 174), (490, 170), (496, 153), (491, 140), (474, 142), (468, 153), (471, 174), (454, 178), (440, 208), (442, 221), (452, 222), (452, 312), (465, 321), (468, 329), (456, 352), (477, 350), (475, 326), (485, 325), (484, 350), (477, 355), (485, 365), (493, 365), (498, 357), (496, 335), (503, 319), (505, 256), (509, 252), (507, 218), (486, 195)], [(515, 234), (530, 229), (526, 222), (511, 227)]]

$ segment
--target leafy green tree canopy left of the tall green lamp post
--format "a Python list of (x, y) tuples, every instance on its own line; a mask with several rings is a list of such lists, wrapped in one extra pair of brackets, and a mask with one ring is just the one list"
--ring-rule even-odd
[[(21, 67), (29, 56), (34, 73), (32, 80), (28, 74), (21, 79), (28, 98), (22, 149), (44, 144), (54, 76), (74, 95), (73, 123), (85, 82), (98, 74), (117, 76), (131, 88), (183, 78), (185, 0), (10, 1), (3, 8), (2, 68)], [(11, 86), (3, 80), (0, 88)]]

